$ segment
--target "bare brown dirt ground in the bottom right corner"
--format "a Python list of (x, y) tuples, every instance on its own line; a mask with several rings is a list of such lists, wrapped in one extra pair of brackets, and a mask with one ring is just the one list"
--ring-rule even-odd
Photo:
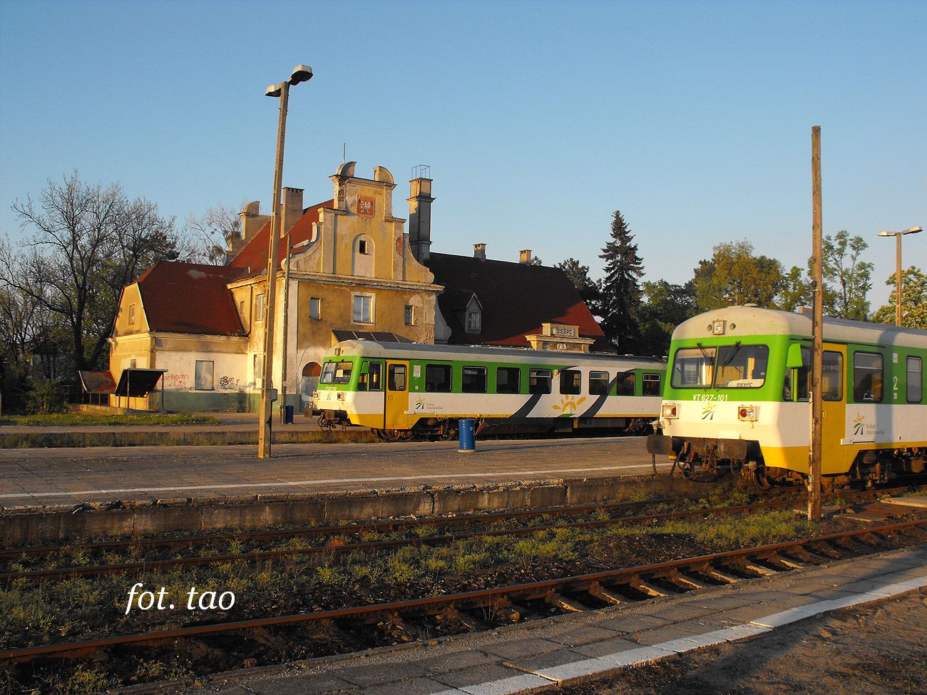
[(563, 692), (921, 695), (927, 692), (927, 596), (844, 609)]

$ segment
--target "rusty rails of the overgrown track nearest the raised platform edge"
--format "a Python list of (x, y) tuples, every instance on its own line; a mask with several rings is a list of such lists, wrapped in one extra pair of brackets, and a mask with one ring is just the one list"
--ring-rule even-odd
[[(871, 499), (878, 494), (884, 494), (885, 490), (880, 490), (878, 492), (867, 491), (867, 492), (857, 492), (851, 493), (849, 499)], [(403, 530), (411, 529), (422, 529), (428, 527), (438, 527), (442, 525), (466, 525), (466, 524), (480, 524), (486, 525), (493, 522), (500, 521), (512, 521), (512, 520), (526, 520), (530, 518), (538, 518), (540, 516), (560, 516), (565, 514), (578, 515), (582, 513), (588, 513), (592, 511), (605, 511), (605, 512), (617, 512), (617, 511), (629, 511), (635, 508), (646, 507), (646, 506), (656, 506), (658, 504), (665, 504), (669, 501), (679, 501), (679, 499), (650, 499), (642, 500), (638, 502), (618, 502), (607, 505), (581, 505), (576, 507), (565, 507), (558, 508), (554, 510), (555, 513), (543, 512), (543, 511), (516, 511), (516, 512), (492, 512), (488, 514), (480, 515), (468, 515), (465, 517), (450, 517), (448, 519), (439, 520), (437, 523), (435, 520), (412, 520), (405, 522), (388, 522), (384, 524), (352, 524), (349, 529), (350, 533), (355, 535), (362, 535), (362, 533), (368, 533), (372, 530), (380, 531), (383, 530), (394, 530), (401, 528)], [(375, 541), (366, 541), (359, 543), (338, 543), (337, 545), (326, 544), (319, 546), (312, 546), (309, 548), (289, 548), (283, 550), (253, 550), (250, 552), (237, 552), (237, 553), (222, 553), (214, 555), (201, 555), (194, 557), (184, 557), (184, 558), (170, 558), (170, 559), (159, 559), (159, 560), (144, 560), (139, 562), (109, 562), (105, 564), (87, 564), (87, 565), (74, 565), (66, 567), (53, 567), (46, 569), (32, 569), (24, 570), (18, 572), (5, 572), (0, 573), (0, 583), (10, 583), (20, 579), (27, 580), (46, 580), (53, 581), (64, 579), (73, 576), (103, 576), (103, 575), (139, 575), (147, 572), (165, 572), (175, 569), (187, 568), (187, 567), (197, 567), (210, 564), (217, 564), (222, 562), (280, 562), (290, 559), (297, 558), (306, 558), (311, 556), (319, 555), (342, 555), (351, 552), (377, 552), (381, 550), (396, 550), (405, 546), (419, 546), (419, 545), (448, 545), (457, 541), (465, 540), (467, 538), (474, 537), (499, 537), (499, 536), (528, 536), (536, 533), (542, 533), (545, 531), (550, 531), (552, 529), (592, 529), (592, 528), (601, 528), (603, 526), (610, 526), (616, 524), (643, 524), (643, 523), (660, 523), (666, 521), (674, 521), (681, 519), (692, 519), (698, 517), (707, 517), (707, 516), (717, 516), (722, 514), (746, 514), (752, 512), (762, 512), (773, 509), (782, 509), (790, 506), (799, 501), (797, 499), (779, 499), (767, 502), (756, 502), (753, 504), (743, 504), (735, 505), (730, 507), (715, 507), (710, 509), (694, 509), (694, 510), (684, 510), (679, 512), (655, 512), (655, 513), (645, 513), (640, 515), (630, 515), (630, 516), (618, 516), (618, 517), (609, 517), (606, 519), (588, 519), (583, 521), (569, 522), (569, 523), (560, 523), (560, 524), (542, 524), (542, 525), (529, 525), (523, 526), (520, 528), (482, 528), (480, 530), (466, 532), (466, 533), (452, 533), (452, 534), (440, 534), (433, 536), (414, 536), (414, 537), (404, 537), (404, 538), (394, 538), (388, 540), (375, 540)], [(311, 534), (314, 537), (324, 537), (336, 535), (343, 537), (345, 535), (346, 526), (316, 526), (309, 529), (299, 529), (293, 532), (257, 532), (248, 534), (248, 537), (251, 539), (263, 539), (267, 537), (278, 537), (278, 533), (283, 534), (294, 534), (296, 536), (303, 536), (304, 534)], [(292, 537), (292, 536), (284, 536)], [(197, 543), (206, 537), (194, 537), (186, 539), (167, 539), (171, 544), (176, 540), (193, 540)], [(212, 536), (211, 538), (216, 538)], [(225, 539), (225, 536), (220, 537)], [(234, 539), (239, 539), (240, 537), (231, 537)], [(149, 539), (151, 545), (157, 544), (159, 539), (153, 538)], [(100, 543), (100, 544), (91, 544), (88, 546), (89, 549), (124, 549), (130, 546), (129, 542), (118, 542), (118, 543)], [(171, 545), (171, 548), (176, 546)], [(29, 550), (48, 550), (48, 549), (29, 549)], [(57, 551), (57, 549), (55, 549)], [(23, 553), (26, 554), (26, 553)], [(39, 554), (39, 553), (36, 553)], [(5, 555), (0, 554), (0, 557), (5, 557)], [(6, 555), (8, 558), (9, 556)]]

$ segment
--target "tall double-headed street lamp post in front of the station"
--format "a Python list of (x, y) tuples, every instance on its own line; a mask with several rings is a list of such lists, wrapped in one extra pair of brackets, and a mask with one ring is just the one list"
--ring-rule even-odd
[(286, 136), (286, 104), (290, 85), (309, 82), (312, 69), (308, 65), (298, 65), (293, 69), (289, 80), (272, 84), (267, 88), (267, 96), (280, 97), (280, 123), (277, 127), (277, 156), (273, 167), (273, 220), (271, 222), (271, 239), (267, 251), (267, 289), (264, 314), (264, 376), (260, 385), (260, 423), (258, 429), (258, 457), (268, 459), (271, 456), (271, 423), (273, 421), (273, 319), (276, 302), (277, 280), (277, 242), (280, 238), (280, 189), (284, 176), (284, 139)]

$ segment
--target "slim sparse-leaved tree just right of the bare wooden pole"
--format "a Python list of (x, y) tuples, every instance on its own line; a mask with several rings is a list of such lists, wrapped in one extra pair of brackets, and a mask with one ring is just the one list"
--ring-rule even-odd
[(865, 321), (870, 313), (867, 296), (872, 288), (872, 264), (859, 257), (869, 244), (842, 230), (825, 236), (822, 246), (824, 313)]

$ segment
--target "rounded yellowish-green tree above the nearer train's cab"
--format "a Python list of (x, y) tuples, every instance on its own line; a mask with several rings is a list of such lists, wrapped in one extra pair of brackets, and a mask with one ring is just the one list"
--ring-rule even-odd
[(695, 306), (700, 311), (730, 305), (756, 304), (772, 309), (782, 289), (782, 265), (776, 259), (754, 256), (746, 239), (722, 242), (709, 260), (699, 261), (692, 278)]

